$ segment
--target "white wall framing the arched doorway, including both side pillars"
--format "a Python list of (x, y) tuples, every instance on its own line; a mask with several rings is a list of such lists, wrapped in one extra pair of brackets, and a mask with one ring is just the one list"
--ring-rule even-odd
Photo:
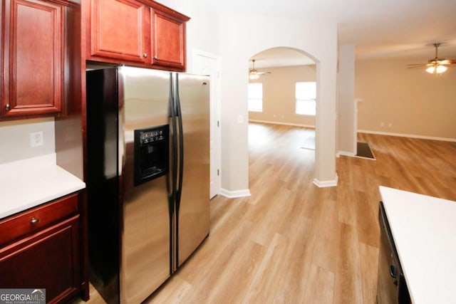
[(249, 58), (277, 46), (305, 51), (317, 63), (316, 183), (336, 183), (336, 23), (227, 14), (222, 55), (222, 187), (248, 189)]

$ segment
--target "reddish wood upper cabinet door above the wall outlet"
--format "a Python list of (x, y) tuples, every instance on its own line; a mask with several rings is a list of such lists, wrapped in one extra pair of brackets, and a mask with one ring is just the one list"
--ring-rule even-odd
[(1, 115), (61, 110), (64, 12), (51, 1), (4, 1)]

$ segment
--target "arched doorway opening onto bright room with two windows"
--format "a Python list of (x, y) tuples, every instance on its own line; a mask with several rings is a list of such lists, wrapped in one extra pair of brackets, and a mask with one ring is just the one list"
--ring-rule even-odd
[(316, 159), (317, 81), (316, 61), (296, 48), (269, 48), (249, 58), (252, 193), (262, 191), (261, 184), (268, 182), (261, 176), (268, 172), (286, 182), (289, 189), (306, 181), (311, 184)]

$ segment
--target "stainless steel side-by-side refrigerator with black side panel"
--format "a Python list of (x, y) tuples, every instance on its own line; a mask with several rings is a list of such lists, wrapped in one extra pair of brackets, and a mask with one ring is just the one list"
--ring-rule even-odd
[(140, 303), (209, 235), (209, 78), (88, 70), (90, 281)]

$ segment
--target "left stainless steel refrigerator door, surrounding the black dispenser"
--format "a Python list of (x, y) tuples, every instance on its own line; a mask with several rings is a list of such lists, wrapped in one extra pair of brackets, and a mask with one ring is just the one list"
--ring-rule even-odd
[[(170, 73), (120, 68), (120, 168), (123, 181), (120, 298), (140, 303), (170, 276), (167, 176), (134, 185), (134, 130), (168, 123)], [(122, 152), (125, 154), (122, 155)]]

